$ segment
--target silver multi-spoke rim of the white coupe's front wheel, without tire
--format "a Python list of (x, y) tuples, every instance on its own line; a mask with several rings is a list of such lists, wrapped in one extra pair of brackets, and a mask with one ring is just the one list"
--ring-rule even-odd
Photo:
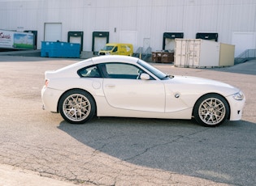
[(198, 115), (206, 125), (217, 125), (226, 116), (225, 104), (220, 99), (205, 99), (198, 108)]

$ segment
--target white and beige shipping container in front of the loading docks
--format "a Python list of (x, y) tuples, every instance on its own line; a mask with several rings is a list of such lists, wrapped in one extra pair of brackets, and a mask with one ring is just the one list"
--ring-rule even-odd
[(179, 67), (206, 68), (233, 66), (235, 47), (211, 40), (176, 39), (174, 65)]

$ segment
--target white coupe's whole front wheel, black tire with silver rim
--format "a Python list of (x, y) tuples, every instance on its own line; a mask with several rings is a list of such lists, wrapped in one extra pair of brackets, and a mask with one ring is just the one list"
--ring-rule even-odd
[(221, 95), (203, 95), (193, 108), (193, 116), (198, 124), (215, 127), (223, 124), (229, 116), (229, 106)]

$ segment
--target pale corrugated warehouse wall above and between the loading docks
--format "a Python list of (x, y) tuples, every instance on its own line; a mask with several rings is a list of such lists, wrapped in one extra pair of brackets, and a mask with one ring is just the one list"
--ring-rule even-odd
[(184, 32), (186, 39), (218, 32), (226, 44), (245, 42), (249, 33), (248, 47), (256, 48), (255, 0), (0, 0), (0, 29), (37, 30), (40, 42), (45, 23), (62, 23), (63, 41), (67, 32), (83, 31), (85, 51), (95, 31), (110, 32), (110, 42), (132, 40), (135, 50), (145, 40), (153, 51), (162, 49), (163, 32)]

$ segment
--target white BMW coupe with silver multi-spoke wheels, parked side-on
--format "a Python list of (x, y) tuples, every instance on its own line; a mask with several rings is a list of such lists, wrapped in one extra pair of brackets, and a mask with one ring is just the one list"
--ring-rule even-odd
[(192, 119), (204, 126), (241, 120), (245, 96), (205, 78), (171, 76), (136, 57), (92, 57), (46, 71), (43, 108), (83, 124), (97, 116)]

